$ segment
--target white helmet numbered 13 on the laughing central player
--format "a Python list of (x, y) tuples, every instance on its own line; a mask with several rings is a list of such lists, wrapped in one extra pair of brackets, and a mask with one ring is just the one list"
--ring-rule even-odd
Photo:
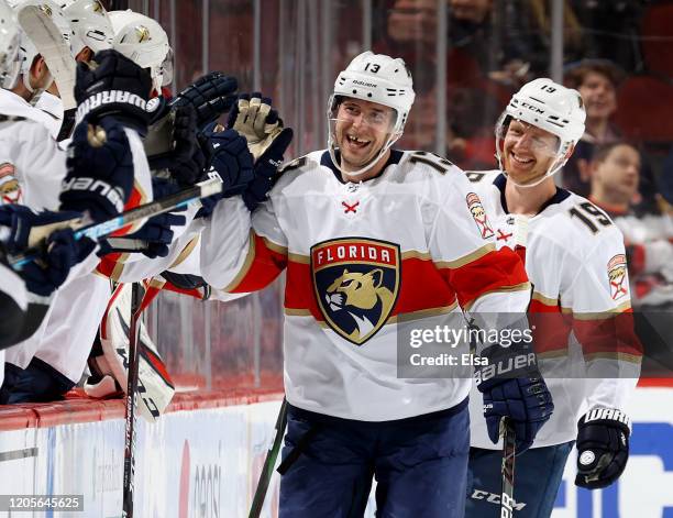
[(402, 135), (409, 111), (416, 98), (411, 73), (401, 58), (393, 58), (385, 54), (374, 54), (366, 51), (355, 56), (346, 69), (336, 76), (334, 92), (328, 102), (328, 147), (332, 162), (340, 169), (339, 162), (335, 159), (335, 134), (330, 122), (335, 118), (339, 104), (344, 97), (376, 102), (395, 110), (395, 124), (378, 155), (360, 170), (342, 170), (346, 176), (358, 176), (374, 166)]

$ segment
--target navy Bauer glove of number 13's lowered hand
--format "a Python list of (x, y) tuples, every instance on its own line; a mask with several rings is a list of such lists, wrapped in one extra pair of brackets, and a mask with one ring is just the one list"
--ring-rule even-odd
[[(482, 352), (488, 365), (475, 368), (478, 390), (484, 395), (484, 418), (488, 437), (498, 442), (500, 421), (509, 418), (515, 434), (517, 455), (528, 450), (540, 428), (549, 420), (554, 404), (538, 371), (534, 354), (526, 346), (490, 345)], [(498, 368), (501, 364), (504, 367)], [(514, 365), (514, 368), (508, 368)], [(505, 374), (496, 375), (497, 372)]]

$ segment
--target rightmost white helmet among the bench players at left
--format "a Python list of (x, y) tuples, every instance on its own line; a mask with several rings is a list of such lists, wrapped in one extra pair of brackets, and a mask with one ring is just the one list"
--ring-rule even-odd
[(152, 84), (161, 91), (166, 62), (170, 59), (170, 45), (166, 31), (153, 19), (131, 11), (110, 11), (114, 31), (112, 48), (120, 52), (137, 66), (150, 68)]

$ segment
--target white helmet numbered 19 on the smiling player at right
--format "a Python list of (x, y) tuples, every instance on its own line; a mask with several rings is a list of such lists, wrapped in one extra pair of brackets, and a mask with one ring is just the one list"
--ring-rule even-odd
[(539, 181), (528, 185), (533, 187), (565, 165), (572, 148), (584, 134), (586, 112), (577, 90), (566, 88), (545, 77), (523, 85), (511, 97), (496, 123), (496, 155), (505, 174), (507, 172), (503, 164), (501, 142), (512, 119), (540, 128), (559, 137), (554, 161)]

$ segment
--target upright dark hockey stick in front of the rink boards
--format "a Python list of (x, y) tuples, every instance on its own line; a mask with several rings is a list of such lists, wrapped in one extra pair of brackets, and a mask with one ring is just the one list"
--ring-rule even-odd
[(145, 291), (142, 284), (134, 283), (131, 295), (131, 329), (129, 331), (129, 375), (126, 389), (125, 436), (124, 436), (124, 485), (122, 517), (133, 518), (133, 476), (135, 474), (135, 397), (137, 390), (139, 357), (137, 346), (142, 312), (142, 300)]

